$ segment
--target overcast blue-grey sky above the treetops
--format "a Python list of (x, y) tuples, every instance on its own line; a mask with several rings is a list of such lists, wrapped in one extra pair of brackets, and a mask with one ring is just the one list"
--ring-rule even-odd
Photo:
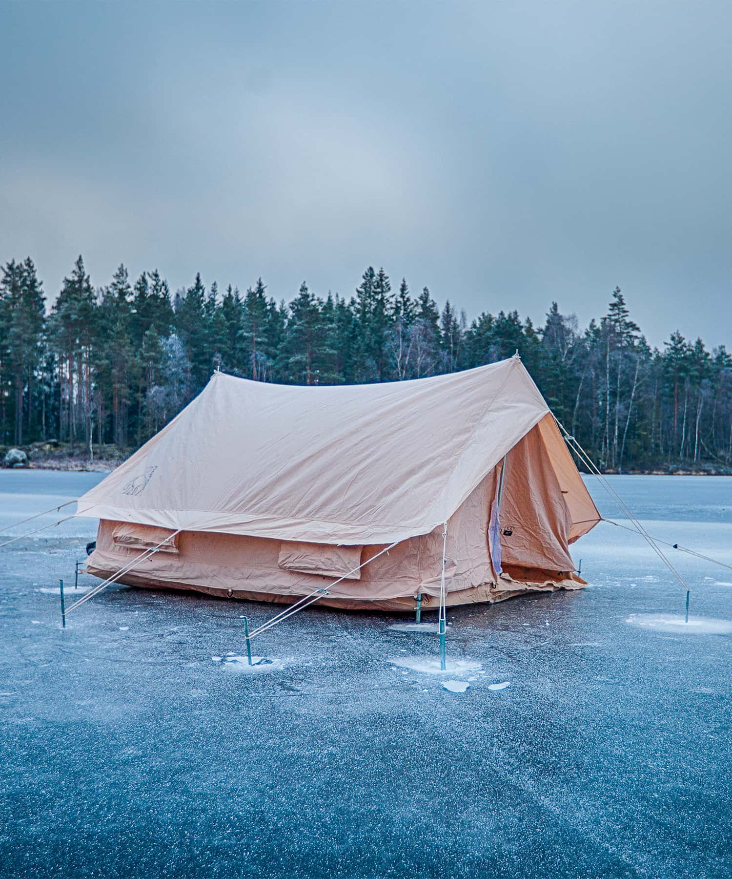
[(0, 261), (732, 346), (728, 0), (0, 0)]

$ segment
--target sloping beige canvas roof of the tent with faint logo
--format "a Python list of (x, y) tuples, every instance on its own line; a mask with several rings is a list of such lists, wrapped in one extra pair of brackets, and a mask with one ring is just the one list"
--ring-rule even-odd
[[(402, 541), (445, 522), (547, 412), (518, 358), (370, 385), (217, 373), (77, 514), (291, 541)], [(562, 452), (569, 458), (563, 443)]]

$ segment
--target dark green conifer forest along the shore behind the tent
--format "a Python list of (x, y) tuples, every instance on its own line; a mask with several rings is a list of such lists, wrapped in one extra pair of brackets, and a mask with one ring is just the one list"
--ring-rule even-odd
[[(0, 279), (0, 444), (54, 439), (131, 451), (173, 418), (215, 369), (255, 381), (402, 381), (518, 351), (547, 403), (605, 471), (732, 472), (732, 358), (674, 332), (651, 348), (620, 289), (580, 328), (556, 302), (543, 325), (517, 311), (470, 323), (424, 287), (366, 269), (354, 294), (291, 301), (263, 281), (240, 293), (171, 295), (159, 272), (124, 265), (95, 288), (79, 257), (47, 309), (33, 261)], [(95, 450), (96, 454), (96, 450)]]

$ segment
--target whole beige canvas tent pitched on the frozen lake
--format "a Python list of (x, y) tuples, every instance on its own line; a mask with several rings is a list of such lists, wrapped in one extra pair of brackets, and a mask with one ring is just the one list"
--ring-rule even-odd
[(518, 357), (347, 387), (215, 374), (79, 511), (100, 578), (292, 602), (346, 575), (323, 604), (388, 610), (436, 607), (445, 524), (455, 605), (583, 585), (569, 544), (600, 519)]

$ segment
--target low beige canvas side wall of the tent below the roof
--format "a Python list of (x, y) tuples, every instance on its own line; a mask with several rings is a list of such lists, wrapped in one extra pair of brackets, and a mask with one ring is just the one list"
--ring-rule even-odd
[[(496, 473), (491, 471), (482, 483), (460, 506), (448, 523), (446, 581), (448, 589), (460, 592), (494, 579), (490, 564), (486, 531), (489, 500), (495, 492)], [(114, 541), (120, 523), (102, 519), (99, 523), (97, 548), (90, 556), (88, 570), (99, 577), (110, 576), (130, 562), (140, 550)], [(149, 542), (149, 526), (125, 526), (127, 534), (139, 541)], [(348, 578), (333, 589), (339, 599), (380, 601), (413, 599), (417, 592), (438, 596), (442, 570), (442, 528), (422, 537), (409, 538), (379, 556), (359, 571), (359, 578)], [(183, 588), (214, 591), (235, 595), (257, 592), (267, 595), (300, 597), (314, 589), (329, 585), (345, 573), (344, 559), (337, 564), (337, 556), (345, 553), (353, 561), (354, 548), (275, 541), (240, 534), (213, 534), (186, 531), (178, 535), (178, 553), (151, 556), (137, 570), (130, 571), (120, 582), (131, 585), (170, 585)], [(376, 555), (383, 544), (359, 548), (361, 562)], [(340, 550), (340, 551), (339, 551)], [(316, 568), (319, 561), (321, 567)], [(283, 566), (293, 557), (304, 565), (322, 573), (306, 573)], [(356, 562), (357, 564), (359, 562)], [(298, 564), (297, 562), (295, 563)], [(298, 565), (299, 566), (299, 565)], [(413, 603), (413, 601), (412, 601)]]

